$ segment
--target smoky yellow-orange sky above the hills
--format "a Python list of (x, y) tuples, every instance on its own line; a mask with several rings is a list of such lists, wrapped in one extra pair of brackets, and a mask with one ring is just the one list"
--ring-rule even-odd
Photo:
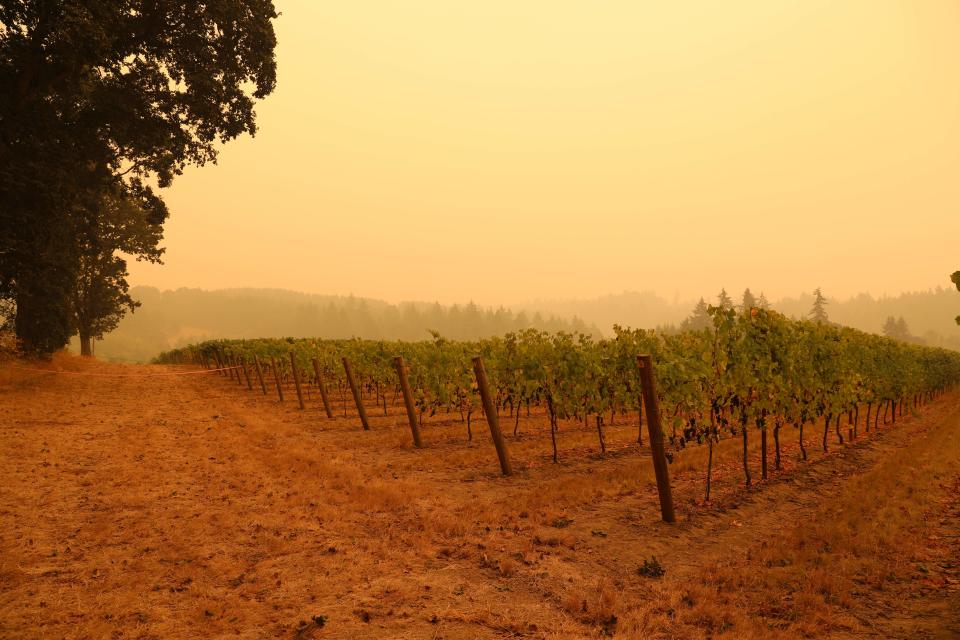
[(948, 285), (955, 0), (279, 0), (133, 284), (481, 304)]

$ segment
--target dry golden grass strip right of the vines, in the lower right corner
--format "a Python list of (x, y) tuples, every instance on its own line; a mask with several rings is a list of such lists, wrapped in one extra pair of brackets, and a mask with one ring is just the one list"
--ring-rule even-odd
[[(824, 495), (808, 519), (772, 526), (745, 555), (708, 562), (687, 584), (667, 585), (629, 612), (621, 630), (626, 637), (691, 638), (960, 633), (958, 581), (931, 584), (924, 566), (944, 557), (930, 544), (943, 523), (930, 516), (945, 501), (956, 502), (960, 488), (958, 417), (953, 409), (837, 494)], [(933, 620), (932, 629), (918, 631), (909, 616), (904, 625), (876, 619), (881, 602), (895, 609), (905, 595), (930, 595), (931, 586), (950, 587), (950, 604), (940, 611), (952, 608), (952, 622)]]

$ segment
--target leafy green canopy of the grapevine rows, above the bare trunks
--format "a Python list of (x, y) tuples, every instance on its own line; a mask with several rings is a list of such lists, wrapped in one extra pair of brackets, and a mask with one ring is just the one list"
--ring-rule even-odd
[[(636, 356), (656, 367), (663, 428), (682, 447), (719, 429), (799, 425), (864, 403), (942, 390), (960, 380), (960, 353), (906, 344), (855, 329), (794, 321), (765, 309), (711, 307), (711, 326), (679, 334), (614, 327), (614, 337), (526, 329), (472, 342), (434, 333), (419, 342), (281, 338), (211, 340), (161, 354), (180, 362), (215, 354), (278, 368), (294, 354), (301, 376), (346, 388), (347, 358), (365, 390), (386, 407), (396, 393), (393, 358), (402, 356), (421, 420), (440, 409), (469, 416), (480, 400), (471, 359), (480, 355), (499, 406), (533, 403), (557, 419), (636, 411), (640, 389)], [(317, 367), (313, 366), (316, 359)]]

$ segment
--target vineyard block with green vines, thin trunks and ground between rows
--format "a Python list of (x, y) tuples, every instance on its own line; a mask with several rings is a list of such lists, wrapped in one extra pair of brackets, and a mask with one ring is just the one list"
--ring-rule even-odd
[[(834, 438), (843, 444), (861, 429), (895, 423), (960, 380), (960, 354), (950, 351), (793, 321), (764, 309), (716, 307), (710, 315), (712, 327), (703, 331), (665, 334), (617, 326), (611, 339), (524, 330), (476, 342), (436, 333), (422, 342), (217, 340), (164, 353), (158, 362), (217, 368), (239, 386), (275, 393), (280, 401), (293, 401), (295, 394), (300, 409), (317, 395), (327, 417), (353, 415), (364, 429), (371, 415), (389, 415), (400, 401), (417, 447), (430, 443), (434, 424), (460, 423), (462, 438), (472, 440), (476, 418), (495, 413), (491, 432), (509, 474), (500, 422), (514, 436), (510, 447), (514, 457), (521, 454), (521, 464), (536, 464), (544, 455), (557, 463), (567, 456), (643, 448), (638, 356), (649, 354), (656, 382), (649, 385), (654, 395), (647, 395), (646, 404), (654, 407), (647, 407), (646, 416), (660, 425), (650, 432), (652, 444), (662, 435), (662, 457), (670, 462), (687, 447), (709, 449), (706, 499), (713, 447), (722, 439), (741, 439), (743, 477), (750, 485), (752, 434), (760, 438), (760, 474), (766, 478), (768, 458), (781, 467), (784, 427), (791, 428), (806, 459), (808, 447), (827, 451)], [(805, 434), (811, 424), (817, 427), (813, 441)], [(449, 441), (448, 431), (443, 433), (438, 437)], [(536, 445), (546, 442), (544, 453)]]

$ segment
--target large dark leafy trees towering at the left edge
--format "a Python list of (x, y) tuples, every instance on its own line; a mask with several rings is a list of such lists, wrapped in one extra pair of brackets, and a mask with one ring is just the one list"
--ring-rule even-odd
[(114, 328), (119, 253), (159, 262), (157, 188), (256, 132), (271, 0), (0, 3), (0, 301), (25, 353)]

